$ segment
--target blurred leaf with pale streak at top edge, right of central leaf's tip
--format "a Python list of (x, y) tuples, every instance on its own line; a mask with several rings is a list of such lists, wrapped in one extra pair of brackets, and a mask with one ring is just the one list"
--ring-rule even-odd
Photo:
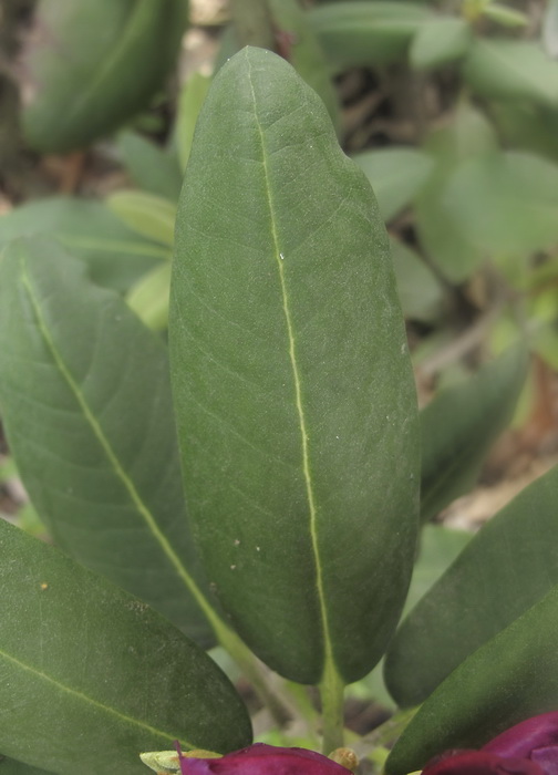
[(404, 59), (430, 10), (412, 2), (348, 0), (308, 11), (310, 24), (337, 70)]

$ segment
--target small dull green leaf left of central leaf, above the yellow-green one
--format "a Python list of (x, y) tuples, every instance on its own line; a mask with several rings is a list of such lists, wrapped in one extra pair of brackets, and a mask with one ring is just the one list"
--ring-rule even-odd
[(120, 158), (132, 182), (151, 194), (176, 202), (183, 176), (176, 155), (136, 132), (121, 132), (116, 138)]

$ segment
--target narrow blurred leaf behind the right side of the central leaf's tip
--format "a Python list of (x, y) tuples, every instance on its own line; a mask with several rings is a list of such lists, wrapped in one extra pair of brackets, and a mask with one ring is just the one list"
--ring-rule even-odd
[(331, 81), (318, 35), (298, 0), (268, 0), (276, 38), (286, 40), (286, 49), (279, 53), (292, 64), (298, 74), (317, 92), (328, 108), (333, 126), (339, 132), (341, 115), (339, 97)]

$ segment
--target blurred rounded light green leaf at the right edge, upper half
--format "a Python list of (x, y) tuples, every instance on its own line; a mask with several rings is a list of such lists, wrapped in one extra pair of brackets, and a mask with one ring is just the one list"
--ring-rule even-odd
[(496, 258), (558, 244), (558, 166), (534, 154), (468, 159), (447, 182), (445, 204), (462, 232)]

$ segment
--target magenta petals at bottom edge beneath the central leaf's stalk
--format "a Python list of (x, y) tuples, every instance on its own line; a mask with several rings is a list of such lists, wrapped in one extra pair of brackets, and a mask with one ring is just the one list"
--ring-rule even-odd
[(219, 758), (192, 758), (179, 751), (178, 755), (182, 775), (347, 775), (350, 772), (314, 751), (278, 748), (264, 743)]

